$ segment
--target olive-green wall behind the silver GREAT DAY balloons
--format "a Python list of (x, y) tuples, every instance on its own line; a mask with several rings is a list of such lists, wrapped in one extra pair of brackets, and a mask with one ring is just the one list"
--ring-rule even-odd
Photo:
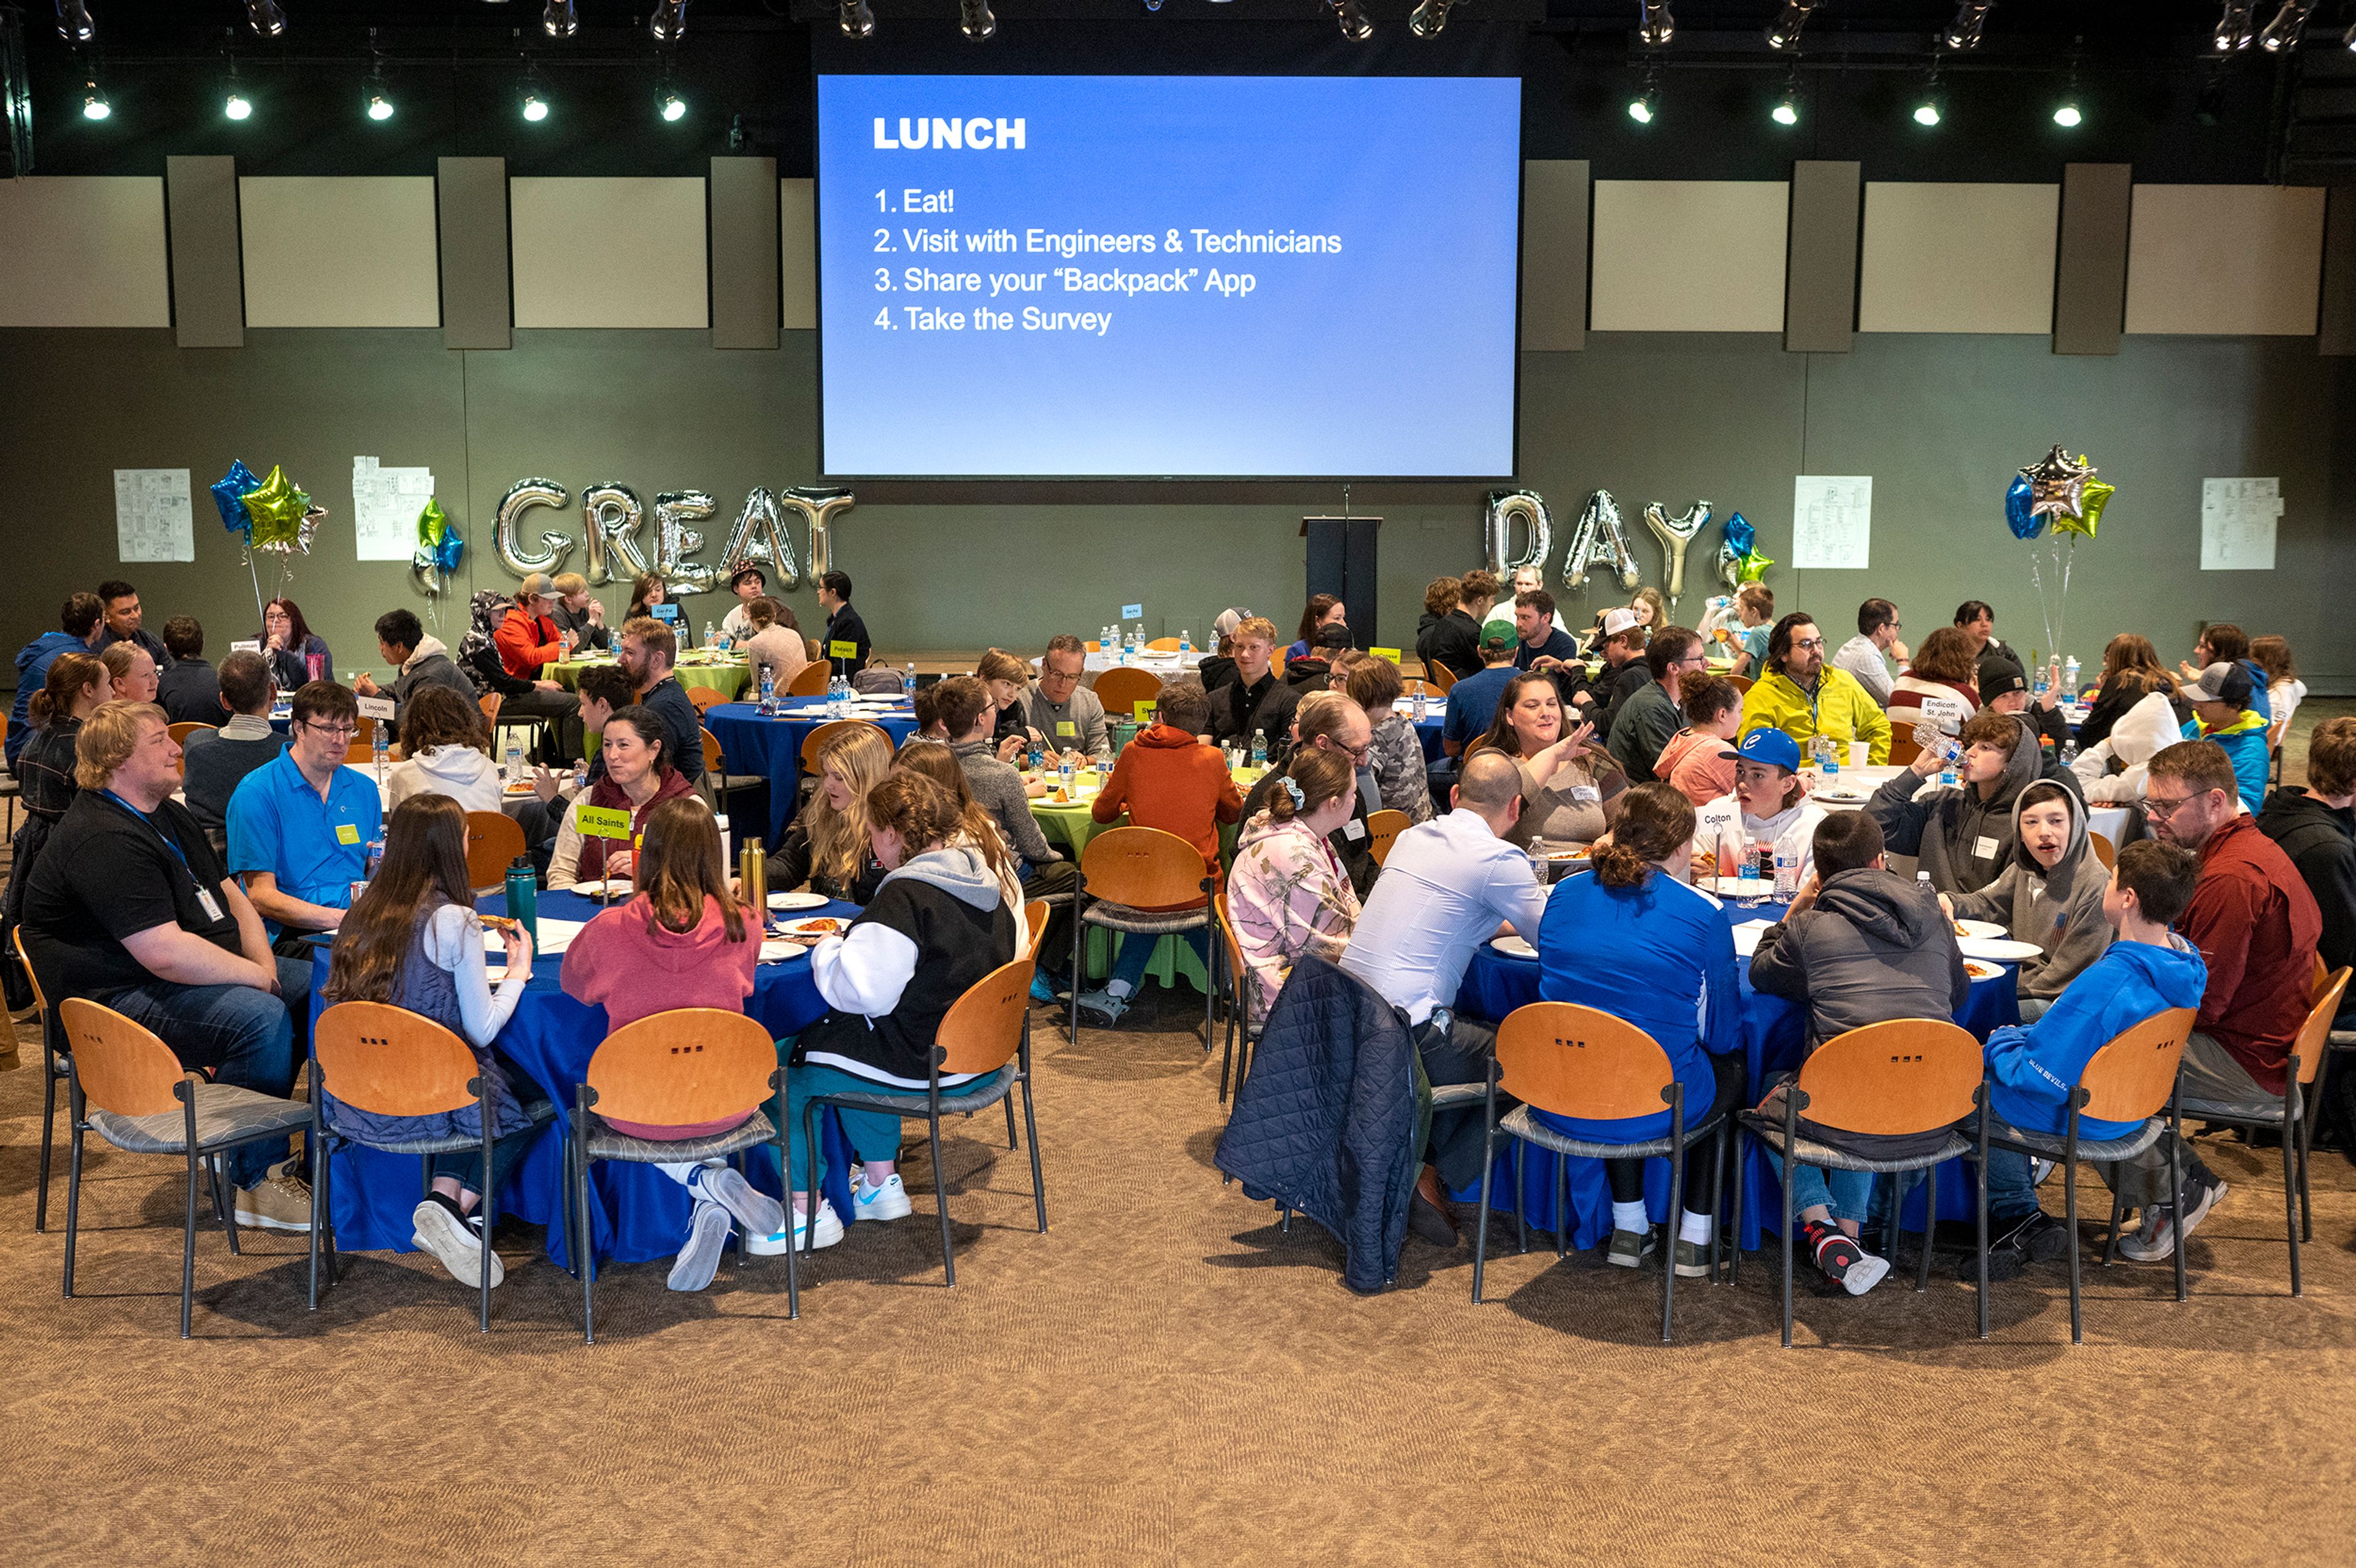
[[(257, 473), (285, 464), (327, 520), (287, 593), (337, 652), (375, 664), (370, 622), (422, 596), (396, 563), (358, 563), (351, 459), (431, 466), (466, 534), (466, 565), (443, 598), (445, 638), (474, 586), (514, 586), (490, 553), (492, 509), (523, 476), (575, 494), (598, 480), (709, 490), (716, 558), (752, 485), (815, 485), (815, 337), (775, 353), (714, 351), (704, 332), (516, 332), (504, 353), (452, 353), (438, 332), (254, 330), (240, 351), (181, 351), (170, 332), (0, 332), (0, 478), (14, 593), (0, 643), (52, 629), (59, 600), (101, 577), (132, 577), (148, 624), (191, 612), (214, 657), (252, 636), (254, 591), (203, 485), (231, 457)], [(2292, 640), (2309, 685), (2356, 690), (2356, 629), (2330, 612), (2356, 511), (2356, 473), (2335, 443), (2347, 424), (2340, 360), (2314, 339), (2127, 339), (2116, 358), (2059, 358), (2040, 337), (1859, 337), (1847, 356), (1791, 356), (1767, 334), (1595, 334), (1583, 353), (1522, 363), (1522, 473), (1555, 509), (1562, 546), (1593, 487), (1612, 490), (1647, 582), (1661, 553), (1640, 523), (1647, 499), (1682, 511), (1708, 497), (1748, 516), (1760, 546), (1791, 558), (1795, 473), (1871, 473), (1873, 570), (1791, 572), (1767, 582), (1779, 607), (1809, 607), (1840, 636), (1859, 598), (1901, 605), (1918, 640), (1963, 598), (1998, 607), (1998, 631), (2045, 645), (2026, 549), (2000, 520), (2012, 469), (2054, 440), (2090, 452), (2120, 490), (2102, 537), (2080, 546), (2064, 650), (2094, 662), (2113, 631), (2142, 631), (2168, 657), (2203, 619)], [(1138, 417), (1152, 419), (1147, 396)], [(113, 469), (188, 466), (198, 487), (193, 565), (115, 560)], [(2198, 570), (2201, 478), (2281, 476), (2285, 516), (2274, 572)], [(1303, 513), (1338, 513), (1341, 485), (860, 485), (836, 527), (836, 565), (886, 652), (1034, 647), (1053, 631), (1093, 633), (1143, 600), (1150, 629), (1204, 636), (1246, 603), (1289, 629), (1303, 596)], [(1143, 504), (1129, 497), (1147, 494)], [(1383, 643), (1409, 645), (1423, 584), (1482, 549), (1480, 485), (1359, 485), (1350, 504), (1385, 518)], [(532, 513), (577, 532), (577, 509)], [(653, 523), (648, 523), (648, 534)], [(1718, 527), (1694, 542), (1687, 600), (1699, 614)], [(799, 549), (799, 542), (796, 542)], [(570, 567), (582, 565), (575, 549)], [(264, 591), (273, 577), (264, 567)], [(1557, 584), (1560, 591), (1560, 584)], [(624, 584), (603, 589), (613, 610)], [(803, 626), (815, 593), (787, 596)], [(1567, 593), (1600, 605), (1614, 593)], [(690, 600), (700, 624), (730, 600)], [(707, 610), (709, 607), (709, 610)], [(1364, 619), (1364, 617), (1352, 617)], [(1835, 638), (1838, 640), (1838, 638)]]

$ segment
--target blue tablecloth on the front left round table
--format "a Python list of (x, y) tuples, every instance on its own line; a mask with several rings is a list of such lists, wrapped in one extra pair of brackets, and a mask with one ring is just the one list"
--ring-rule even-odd
[[(504, 897), (476, 902), (485, 913), (504, 913)], [(598, 906), (575, 892), (542, 892), (540, 913), (558, 921), (589, 921)], [(815, 913), (855, 916), (853, 904), (827, 904)], [(810, 918), (799, 913), (796, 918)], [(549, 1227), (549, 1257), (570, 1267), (563, 1222), (563, 1158), (573, 1125), (573, 1095), (589, 1071), (589, 1057), (605, 1038), (605, 1010), (573, 1001), (558, 984), (563, 956), (537, 956), (532, 979), (516, 1003), (516, 1015), (499, 1031), (497, 1048), (521, 1067), (556, 1104), (556, 1121), (542, 1128), (530, 1154), (516, 1161), (499, 1194), (504, 1212)], [(320, 986), (327, 979), (327, 949), (311, 958), (311, 1017), (323, 1010)], [(815, 1024), (827, 1012), (803, 954), (785, 963), (763, 963), (744, 1012), (775, 1038), (787, 1038)], [(530, 1097), (530, 1085), (518, 1085)], [(839, 1132), (827, 1137), (827, 1196), (836, 1212), (851, 1212), (848, 1147)], [(747, 1172), (768, 1194), (780, 1194), (777, 1158), (770, 1149), (747, 1156)], [(410, 1210), (417, 1208), (422, 1180), (415, 1156), (375, 1149), (339, 1149), (330, 1196), (335, 1203), (337, 1245), (346, 1250), (410, 1248)], [(608, 1161), (589, 1172), (589, 1227), (601, 1262), (650, 1262), (671, 1257), (688, 1234), (688, 1189), (653, 1165)]]

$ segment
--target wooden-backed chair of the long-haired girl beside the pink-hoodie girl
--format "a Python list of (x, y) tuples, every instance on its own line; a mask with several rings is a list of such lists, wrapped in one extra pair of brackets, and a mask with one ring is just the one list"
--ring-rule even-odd
[[(466, 812), (469, 836), (474, 829), (474, 817), (488, 812)], [(507, 822), (507, 817), (499, 817)], [(509, 822), (509, 826), (514, 826)], [(521, 829), (518, 829), (521, 838)], [(346, 1132), (335, 1125), (327, 1116), (327, 1085), (335, 1085), (335, 1097), (349, 1104), (353, 1111), (368, 1111), (370, 1116), (448, 1116), (474, 1107), (476, 1111), (476, 1137), (464, 1132), (448, 1132), (441, 1137), (415, 1137), (403, 1142), (375, 1142)], [(556, 1107), (544, 1097), (523, 1107), (525, 1118), (540, 1125), (556, 1116)], [(318, 1015), (311, 1026), (311, 1147), (318, 1151), (313, 1158), (311, 1180), (311, 1311), (318, 1311), (318, 1262), (320, 1262), (320, 1236), (325, 1234), (327, 1255), (327, 1283), (335, 1283), (335, 1208), (330, 1201), (330, 1184), (335, 1180), (335, 1147), (356, 1144), (360, 1149), (379, 1149), (384, 1154), (415, 1154), (417, 1170), (424, 1191), (434, 1191), (434, 1156), (436, 1154), (459, 1154), (464, 1149), (478, 1149), (483, 1156), (483, 1172), (490, 1165), (490, 1144), (497, 1132), (497, 1116), (492, 1109), (490, 1078), (476, 1062), (474, 1048), (457, 1038), (434, 1019), (422, 1012), (410, 1012), (408, 1008), (391, 1008), (386, 1003), (337, 1003)], [(570, 1172), (568, 1172), (570, 1175)], [(481, 1278), (481, 1333), (490, 1333), (490, 1288), (504, 1278), (497, 1255), (490, 1250), (490, 1234), (499, 1217), (499, 1194), (490, 1191), (495, 1187), (490, 1180), (483, 1182), (483, 1278)], [(565, 1194), (565, 1236), (573, 1238), (573, 1205), (570, 1191)]]

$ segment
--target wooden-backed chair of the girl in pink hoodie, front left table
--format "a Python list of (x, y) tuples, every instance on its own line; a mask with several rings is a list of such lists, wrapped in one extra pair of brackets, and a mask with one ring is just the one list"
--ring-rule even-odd
[[(1030, 984), (1030, 982), (1025, 982)], [(768, 1102), (777, 1118), (768, 1118)], [(681, 1128), (702, 1121), (742, 1116), (726, 1132), (709, 1137), (655, 1140), (615, 1132), (608, 1116), (657, 1128)], [(777, 1168), (787, 1165), (785, 1147), (785, 1069), (777, 1043), (759, 1022), (719, 1008), (674, 1008), (650, 1012), (636, 1024), (622, 1024), (596, 1048), (582, 1081), (573, 1088), (573, 1125), (565, 1130), (565, 1158), (573, 1175), (573, 1253), (582, 1276), (582, 1344), (596, 1342), (596, 1234), (589, 1227), (589, 1165), (624, 1161), (664, 1165), (681, 1161), (737, 1158), (759, 1144), (777, 1147)], [(787, 1212), (792, 1227), (792, 1212)], [(813, 1227), (815, 1229), (815, 1227)], [(789, 1231), (792, 1234), (792, 1231)], [(737, 1238), (737, 1267), (744, 1267), (744, 1241)], [(801, 1316), (801, 1281), (794, 1274), (794, 1250), (785, 1255), (785, 1316)]]

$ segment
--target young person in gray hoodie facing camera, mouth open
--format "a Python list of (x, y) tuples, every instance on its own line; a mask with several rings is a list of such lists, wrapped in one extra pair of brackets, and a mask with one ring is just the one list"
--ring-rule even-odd
[(2033, 1024), (2062, 986), (2111, 946), (2102, 918), (2109, 873), (2085, 833), (2085, 805), (2062, 784), (2038, 779), (2012, 803), (2012, 859), (1979, 892), (1939, 895), (1958, 921), (1996, 921), (2014, 942), (2036, 942), (2021, 958), (2021, 1022)]

